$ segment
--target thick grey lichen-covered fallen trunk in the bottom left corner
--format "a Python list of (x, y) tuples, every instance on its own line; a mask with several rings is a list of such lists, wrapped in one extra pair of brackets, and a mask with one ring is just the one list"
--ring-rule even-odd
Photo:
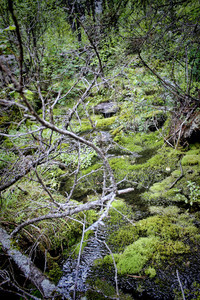
[(15, 262), (24, 276), (40, 291), (43, 298), (54, 298), (57, 292), (59, 292), (58, 288), (34, 265), (30, 258), (14, 247), (10, 235), (1, 227), (0, 244), (3, 251)]

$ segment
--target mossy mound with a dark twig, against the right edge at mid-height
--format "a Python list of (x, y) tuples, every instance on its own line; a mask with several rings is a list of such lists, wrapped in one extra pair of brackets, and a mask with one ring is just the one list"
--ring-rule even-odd
[[(186, 152), (181, 160), (181, 168), (170, 172), (166, 178), (155, 182), (149, 191), (143, 193), (142, 198), (151, 204), (156, 203), (193, 203), (199, 204), (198, 188), (200, 185), (199, 149)], [(169, 164), (169, 166), (171, 166)], [(167, 175), (167, 174), (166, 174)]]

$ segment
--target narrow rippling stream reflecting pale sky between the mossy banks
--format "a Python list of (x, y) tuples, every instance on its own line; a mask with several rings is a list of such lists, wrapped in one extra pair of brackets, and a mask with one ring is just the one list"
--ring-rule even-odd
[[(113, 143), (112, 137), (108, 131), (100, 132), (100, 140), (101, 140), (100, 142), (103, 143), (105, 146), (108, 144), (113, 146), (109, 148), (107, 154), (108, 158), (121, 157), (122, 155), (127, 155), (130, 157), (130, 159), (132, 157), (135, 160), (135, 159), (141, 159), (143, 157), (143, 155), (139, 155), (138, 153), (133, 153), (129, 150), (126, 150), (123, 147), (116, 149), (116, 145)], [(140, 199), (139, 199), (140, 193), (141, 193), (140, 190), (138, 191), (135, 190), (134, 192), (130, 193), (130, 195), (127, 194), (124, 195), (124, 197), (122, 197), (126, 199), (127, 202), (130, 204), (133, 203), (133, 201), (131, 201), (130, 199), (135, 200), (134, 201), (135, 205), (133, 209), (136, 212), (137, 215), (136, 218), (138, 217), (138, 219), (144, 217), (144, 215), (146, 214), (145, 212), (146, 207), (144, 207), (143, 204), (140, 203)], [(103, 258), (105, 255), (108, 254), (108, 249), (103, 243), (107, 235), (106, 230), (107, 229), (105, 226), (99, 226), (97, 231), (95, 232), (95, 235), (90, 236), (87, 245), (84, 247), (83, 252), (81, 254), (79, 266), (77, 265), (78, 259), (77, 258), (74, 259), (73, 257), (69, 257), (67, 261), (64, 263), (63, 275), (58, 283), (58, 287), (61, 290), (63, 299), (87, 300), (88, 298), (85, 296), (85, 293), (88, 290), (90, 290), (90, 294), (93, 293), (92, 287), (87, 283), (87, 280), (90, 279), (90, 277), (92, 278), (92, 276), (94, 275), (92, 273), (92, 267), (94, 265), (94, 261), (96, 259)], [(98, 276), (98, 274), (95, 275)], [(114, 274), (113, 274), (113, 278), (114, 278)], [(74, 294), (74, 291), (76, 291), (76, 295)], [(95, 292), (95, 295), (96, 293), (98, 292)], [(102, 295), (102, 293), (100, 294), (101, 294), (100, 299), (111, 299), (110, 297)], [(90, 299), (95, 299), (95, 298), (96, 296), (92, 296), (92, 298)]]

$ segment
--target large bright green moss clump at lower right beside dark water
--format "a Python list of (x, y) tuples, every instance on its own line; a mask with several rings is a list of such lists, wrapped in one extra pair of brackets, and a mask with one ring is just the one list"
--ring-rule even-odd
[[(163, 260), (170, 263), (176, 257), (181, 261), (183, 255), (191, 251), (189, 243), (198, 243), (198, 228), (191, 215), (181, 214), (175, 206), (154, 207), (152, 212), (156, 215), (138, 221), (135, 226), (122, 225), (108, 238), (110, 247), (115, 250), (114, 259), (120, 274), (144, 272), (153, 278)], [(107, 255), (98, 264), (113, 265), (113, 259)]]

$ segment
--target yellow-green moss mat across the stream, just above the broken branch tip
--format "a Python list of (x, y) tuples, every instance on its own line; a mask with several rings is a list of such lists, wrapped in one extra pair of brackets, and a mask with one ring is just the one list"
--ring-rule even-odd
[[(146, 138), (148, 136), (147, 140), (144, 141), (145, 147), (150, 147), (151, 143), (149, 142), (149, 135), (144, 136)], [(128, 148), (131, 151), (135, 150), (135, 141), (133, 141), (134, 137), (132, 137), (133, 147), (127, 147), (126, 144), (123, 144), (123, 147)], [(140, 143), (142, 144), (142, 140)], [(133, 182), (139, 182), (139, 185), (141, 186), (146, 186), (149, 182), (152, 183), (152, 181), (160, 182), (161, 179), (166, 177), (166, 174), (174, 171), (177, 168), (177, 159), (179, 158), (180, 152), (168, 147), (156, 150), (157, 147), (159, 147), (159, 143), (160, 141), (157, 143), (154, 141), (152, 144), (153, 148), (146, 148), (146, 150), (140, 152), (139, 154), (141, 154), (142, 157), (139, 158), (128, 155), (110, 158), (109, 162), (116, 176), (116, 180), (120, 181), (126, 177)], [(168, 169), (170, 171), (168, 171)], [(163, 186), (168, 189), (173, 180), (175, 180), (173, 176), (172, 178), (166, 179), (166, 182), (161, 183), (162, 187), (160, 187), (159, 191), (164, 190)], [(160, 183), (158, 183), (158, 185), (159, 184)]]

